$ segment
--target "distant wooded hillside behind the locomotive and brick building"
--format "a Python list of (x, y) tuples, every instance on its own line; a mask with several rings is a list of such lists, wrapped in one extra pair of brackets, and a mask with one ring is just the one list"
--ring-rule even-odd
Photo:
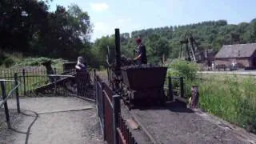
[[(136, 30), (131, 34), (124, 33), (120, 36), (122, 54), (134, 57), (133, 51), (136, 48), (134, 39), (142, 38), (146, 45), (149, 62), (160, 62), (163, 54), (166, 58), (178, 58), (180, 41), (186, 37), (186, 34), (193, 35), (200, 50), (211, 49), (217, 53), (223, 45), (256, 42), (256, 18), (251, 22), (241, 22), (238, 25), (228, 24), (226, 20), (218, 20), (185, 26), (165, 26)], [(113, 38), (113, 35), (102, 37), (94, 43), (94, 48), (98, 49), (98, 55), (102, 57), (102, 62), (106, 55), (106, 44), (110, 46), (110, 50), (114, 50), (114, 43), (111, 43), (114, 42)]]

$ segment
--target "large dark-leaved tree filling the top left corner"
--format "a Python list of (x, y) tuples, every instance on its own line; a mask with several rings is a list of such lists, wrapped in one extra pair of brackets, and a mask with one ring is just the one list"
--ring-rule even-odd
[(0, 49), (30, 49), (30, 41), (46, 22), (46, 2), (30, 0), (2, 0), (0, 2)]

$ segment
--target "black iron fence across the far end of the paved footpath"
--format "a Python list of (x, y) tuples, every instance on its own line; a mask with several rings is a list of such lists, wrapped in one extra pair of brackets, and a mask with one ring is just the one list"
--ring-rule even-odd
[[(18, 89), (20, 96), (34, 96), (39, 93), (67, 95), (78, 92), (75, 69), (54, 68), (54, 74), (47, 73), (43, 66), (9, 69), (1, 71), (0, 79), (12, 80), (15, 74), (17, 74), (18, 82), (20, 82)], [(81, 81), (79, 78), (78, 80)], [(6, 90), (11, 90), (11, 87), (10, 84), (6, 85)]]

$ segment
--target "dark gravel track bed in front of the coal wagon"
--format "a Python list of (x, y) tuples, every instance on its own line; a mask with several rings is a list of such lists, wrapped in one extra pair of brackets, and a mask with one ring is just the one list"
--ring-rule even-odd
[(158, 143), (175, 144), (243, 144), (246, 138), (218, 126), (185, 107), (156, 107), (150, 110), (132, 110)]

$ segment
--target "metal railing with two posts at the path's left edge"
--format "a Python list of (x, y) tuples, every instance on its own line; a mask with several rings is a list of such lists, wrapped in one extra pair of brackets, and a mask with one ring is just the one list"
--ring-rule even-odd
[[(18, 113), (20, 113), (20, 106), (19, 106), (19, 94), (18, 94), (18, 87), (21, 85), (21, 82), (18, 82), (18, 76), (17, 74), (14, 74), (14, 80), (6, 80), (6, 79), (0, 79), (1, 83), (1, 90), (2, 90), (2, 102), (0, 102), (0, 108), (4, 106), (5, 114), (6, 114), (6, 122), (7, 126), (10, 129), (10, 115), (9, 115), (9, 109), (7, 100), (14, 94), (16, 95), (16, 102), (17, 102), (17, 110)], [(12, 88), (9, 92), (9, 94), (6, 94), (6, 82), (14, 82), (14, 88)]]

